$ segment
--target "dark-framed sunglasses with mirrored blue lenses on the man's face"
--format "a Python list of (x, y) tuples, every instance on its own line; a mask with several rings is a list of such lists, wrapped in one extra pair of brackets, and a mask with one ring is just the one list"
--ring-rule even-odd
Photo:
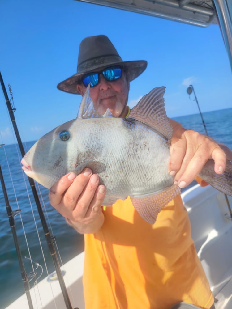
[(99, 74), (102, 74), (109, 82), (116, 80), (122, 76), (122, 68), (120, 66), (111, 66), (101, 72), (91, 72), (82, 77), (85, 87), (90, 83), (90, 87), (94, 87), (99, 83)]

